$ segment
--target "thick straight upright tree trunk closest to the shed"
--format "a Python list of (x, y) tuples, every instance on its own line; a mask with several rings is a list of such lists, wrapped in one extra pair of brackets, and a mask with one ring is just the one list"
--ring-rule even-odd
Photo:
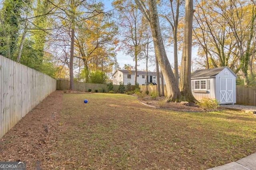
[(183, 100), (186, 100), (188, 102), (194, 102), (196, 100), (191, 91), (191, 51), (193, 13), (193, 0), (186, 0), (184, 41), (180, 74), (180, 92), (183, 96)]

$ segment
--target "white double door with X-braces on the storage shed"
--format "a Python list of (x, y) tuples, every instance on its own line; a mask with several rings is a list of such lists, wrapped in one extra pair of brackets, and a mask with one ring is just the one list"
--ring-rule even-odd
[(233, 79), (220, 78), (220, 103), (233, 102)]

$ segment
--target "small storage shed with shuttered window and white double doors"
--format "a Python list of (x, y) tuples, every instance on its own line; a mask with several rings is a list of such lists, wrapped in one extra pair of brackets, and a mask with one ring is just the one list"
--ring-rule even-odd
[(191, 74), (192, 94), (196, 100), (216, 98), (220, 104), (235, 104), (236, 78), (227, 66), (196, 70)]

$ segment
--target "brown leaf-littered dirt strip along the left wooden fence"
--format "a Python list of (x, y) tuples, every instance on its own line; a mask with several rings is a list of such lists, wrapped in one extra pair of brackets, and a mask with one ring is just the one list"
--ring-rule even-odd
[[(62, 91), (55, 91), (24, 116), (0, 139), (1, 161), (26, 161), (27, 169), (50, 169), (57, 126), (62, 109)], [(46, 168), (47, 167), (47, 168)]]

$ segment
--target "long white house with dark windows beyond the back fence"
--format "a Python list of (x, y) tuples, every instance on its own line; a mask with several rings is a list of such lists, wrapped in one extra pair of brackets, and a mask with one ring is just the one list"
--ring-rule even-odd
[[(127, 85), (127, 83), (130, 82), (132, 85), (135, 85), (135, 71), (133, 70), (116, 70), (114, 74), (112, 74), (112, 78), (113, 84), (119, 85), (119, 82), (124, 82), (124, 85)], [(140, 85), (146, 85), (146, 71), (137, 71), (137, 82)], [(148, 72), (148, 84), (158, 84), (156, 80), (156, 72)]]

